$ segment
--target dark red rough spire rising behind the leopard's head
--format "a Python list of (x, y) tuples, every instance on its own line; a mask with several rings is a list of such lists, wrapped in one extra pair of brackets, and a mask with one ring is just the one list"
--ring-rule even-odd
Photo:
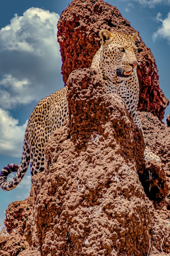
[[(91, 66), (94, 54), (100, 48), (98, 33), (101, 29), (129, 34), (135, 32), (116, 7), (102, 0), (73, 0), (61, 14), (57, 27), (65, 83), (73, 70)], [(137, 46), (140, 85), (138, 109), (151, 112), (162, 120), (169, 101), (159, 88), (155, 58), (141, 38)]]

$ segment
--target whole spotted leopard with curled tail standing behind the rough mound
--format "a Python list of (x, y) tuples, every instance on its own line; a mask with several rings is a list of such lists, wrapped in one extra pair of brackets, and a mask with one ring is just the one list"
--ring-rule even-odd
[[(94, 55), (91, 68), (100, 74), (109, 94), (118, 94), (126, 109), (133, 117), (135, 125), (142, 131), (142, 124), (137, 113), (139, 101), (139, 81), (137, 78), (137, 46), (138, 32), (126, 34), (124, 32), (102, 29), (99, 32), (101, 46)], [(63, 126), (68, 120), (67, 86), (45, 97), (31, 113), (24, 135), (22, 159), (20, 165), (8, 164), (0, 173), (0, 186), (3, 190), (14, 189), (26, 173), (29, 163), (31, 177), (41, 173), (46, 168), (45, 145), (51, 133)], [(144, 159), (146, 161), (161, 162), (145, 146)], [(10, 182), (7, 176), (16, 172)]]

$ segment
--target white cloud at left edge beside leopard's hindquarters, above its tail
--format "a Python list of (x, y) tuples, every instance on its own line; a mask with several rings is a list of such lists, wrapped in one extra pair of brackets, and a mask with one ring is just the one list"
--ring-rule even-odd
[(27, 121), (22, 126), (9, 112), (0, 109), (0, 154), (21, 157)]

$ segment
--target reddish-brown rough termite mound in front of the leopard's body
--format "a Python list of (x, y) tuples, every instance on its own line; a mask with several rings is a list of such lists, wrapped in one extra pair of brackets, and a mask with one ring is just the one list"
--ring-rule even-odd
[[(2, 252), (161, 256), (161, 246), (168, 255), (167, 198), (155, 210), (144, 193), (139, 180), (145, 172), (144, 141), (122, 99), (106, 93), (94, 70), (74, 71), (67, 85), (69, 121), (48, 141), (47, 170), (33, 177), (28, 200), (10, 205), (6, 223), (11, 234), (1, 238)], [(166, 135), (157, 118), (155, 125)]]

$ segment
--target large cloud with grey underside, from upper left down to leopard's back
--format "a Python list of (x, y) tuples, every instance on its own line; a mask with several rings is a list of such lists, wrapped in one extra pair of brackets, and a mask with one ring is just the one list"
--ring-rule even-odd
[(59, 15), (30, 8), (0, 29), (0, 107), (11, 109), (63, 86), (57, 43)]

